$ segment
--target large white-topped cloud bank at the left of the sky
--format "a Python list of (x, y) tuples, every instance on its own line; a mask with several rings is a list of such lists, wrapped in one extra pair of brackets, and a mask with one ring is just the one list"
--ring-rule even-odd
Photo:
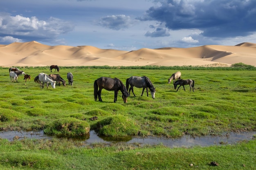
[(72, 31), (74, 26), (65, 20), (50, 17), (48, 20), (38, 20), (35, 16), (11, 16), (0, 13), (0, 36), (10, 36), (22, 41), (45, 40), (55, 41), (58, 35)]

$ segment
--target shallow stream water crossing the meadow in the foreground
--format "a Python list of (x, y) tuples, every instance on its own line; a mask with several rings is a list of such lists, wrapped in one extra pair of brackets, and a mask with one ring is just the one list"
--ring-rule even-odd
[[(113, 144), (113, 143), (125, 143), (125, 144), (140, 144), (141, 146), (145, 144), (157, 145), (163, 144), (170, 148), (174, 147), (191, 147), (191, 146), (211, 146), (220, 144), (235, 144), (242, 140), (254, 139), (256, 135), (255, 131), (252, 132), (230, 132), (229, 135), (222, 136), (203, 136), (203, 137), (191, 137), (189, 135), (184, 135), (180, 138), (166, 138), (166, 137), (103, 137), (97, 135), (93, 130), (90, 134), (83, 137), (75, 138), (76, 140), (83, 141), (84, 144)], [(17, 131), (1, 131), (0, 138), (8, 139), (13, 141), (13, 138), (18, 137), (18, 139), (52, 139), (52, 136), (46, 135), (41, 131), (29, 131), (29, 132), (17, 132)]]

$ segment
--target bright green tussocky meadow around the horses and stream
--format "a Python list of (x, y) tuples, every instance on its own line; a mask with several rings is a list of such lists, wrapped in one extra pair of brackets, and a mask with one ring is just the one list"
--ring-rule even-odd
[[(49, 67), (24, 67), (31, 75), (11, 82), (8, 68), (0, 68), (0, 130), (44, 130), (56, 136), (100, 135), (164, 136), (221, 135), (231, 131), (256, 130), (256, 70), (245, 68), (123, 68), (60, 67), (74, 75), (73, 86), (56, 85), (40, 89), (34, 82)], [(52, 70), (54, 71), (54, 69)], [(181, 71), (182, 79), (195, 81), (176, 92), (168, 78)], [(54, 73), (54, 72), (52, 72)], [(94, 80), (119, 78), (126, 84), (132, 75), (147, 76), (156, 88), (155, 99), (141, 96), (135, 88), (124, 103), (121, 92), (114, 103), (114, 91), (102, 90), (103, 102), (94, 101)], [(96, 120), (91, 120), (97, 117)], [(256, 141), (236, 145), (167, 148), (165, 146), (93, 144), (81, 147), (68, 138), (52, 140), (0, 139), (0, 169), (256, 169)], [(218, 167), (211, 166), (217, 161)], [(193, 163), (193, 166), (189, 166)]]

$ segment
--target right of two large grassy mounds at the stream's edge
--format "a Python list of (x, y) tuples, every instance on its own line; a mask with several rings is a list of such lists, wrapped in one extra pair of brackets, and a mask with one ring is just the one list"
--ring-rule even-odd
[(134, 136), (138, 134), (139, 127), (129, 117), (115, 115), (98, 121), (95, 130), (105, 136)]

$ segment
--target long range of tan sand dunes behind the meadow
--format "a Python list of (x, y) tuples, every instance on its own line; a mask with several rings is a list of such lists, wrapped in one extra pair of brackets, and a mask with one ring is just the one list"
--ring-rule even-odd
[(119, 51), (94, 46), (48, 46), (36, 41), (0, 45), (2, 67), (10, 66), (256, 66), (256, 44)]

